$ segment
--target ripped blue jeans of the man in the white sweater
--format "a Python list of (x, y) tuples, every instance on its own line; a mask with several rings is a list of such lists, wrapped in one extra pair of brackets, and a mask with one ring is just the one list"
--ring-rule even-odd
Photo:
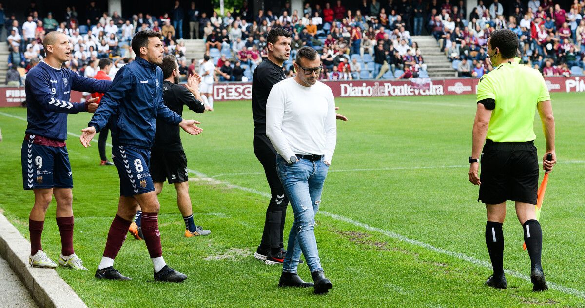
[[(321, 203), (321, 192), (329, 167), (320, 161), (298, 160), (288, 164), (280, 155), (276, 158), (276, 172), (284, 186), (294, 212), (288, 235), (288, 250), (284, 257), (283, 272), (296, 273), (301, 252), (309, 270), (323, 271), (315, 239), (315, 214)], [(292, 249), (291, 249), (292, 247)]]

